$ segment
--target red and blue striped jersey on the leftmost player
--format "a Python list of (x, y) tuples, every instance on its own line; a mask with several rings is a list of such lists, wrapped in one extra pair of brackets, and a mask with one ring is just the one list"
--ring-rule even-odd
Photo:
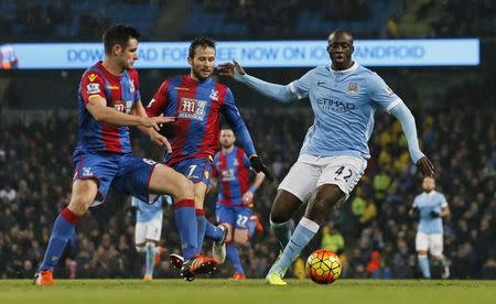
[(79, 141), (76, 151), (131, 153), (129, 128), (98, 122), (86, 108), (94, 95), (105, 98), (107, 107), (129, 113), (134, 102), (141, 100), (138, 72), (128, 69), (115, 76), (98, 62), (83, 74), (77, 93)]

